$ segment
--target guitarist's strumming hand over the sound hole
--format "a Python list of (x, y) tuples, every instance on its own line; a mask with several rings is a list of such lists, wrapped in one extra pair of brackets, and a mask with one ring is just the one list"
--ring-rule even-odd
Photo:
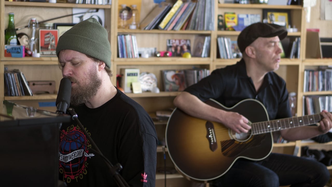
[(251, 126), (248, 125), (249, 120), (237, 112), (226, 112), (226, 117), (223, 118), (222, 123), (235, 131), (236, 133), (247, 133)]

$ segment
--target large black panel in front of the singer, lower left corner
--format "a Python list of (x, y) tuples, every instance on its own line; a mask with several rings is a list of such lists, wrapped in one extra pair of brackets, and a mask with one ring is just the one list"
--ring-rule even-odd
[(0, 121), (1, 186), (58, 186), (59, 128), (70, 115)]

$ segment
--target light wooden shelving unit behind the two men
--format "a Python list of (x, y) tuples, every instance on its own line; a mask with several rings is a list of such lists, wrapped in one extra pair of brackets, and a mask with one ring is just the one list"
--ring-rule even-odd
[[(130, 4), (130, 3), (128, 3)], [(303, 72), (307, 66), (328, 66), (332, 65), (331, 59), (306, 59), (305, 49), (306, 49), (306, 28), (314, 28), (315, 25), (308, 24), (305, 21), (305, 9), (298, 5), (266, 5), (266, 4), (218, 4), (215, 0), (215, 15), (214, 15), (214, 30), (212, 31), (164, 31), (164, 30), (130, 30), (130, 29), (118, 29), (118, 1), (112, 1), (112, 5), (84, 5), (84, 4), (70, 4), (70, 3), (41, 3), (41, 2), (20, 2), (20, 1), (0, 1), (0, 17), (6, 18), (9, 12), (15, 13), (15, 26), (22, 27), (28, 24), (31, 17), (36, 16), (38, 20), (46, 20), (56, 16), (62, 16), (72, 13), (72, 8), (99, 8), (105, 11), (105, 28), (109, 32), (109, 39), (111, 43), (112, 51), (112, 71), (113, 77), (111, 78), (113, 84), (116, 83), (116, 74), (119, 74), (121, 68), (139, 68), (140, 72), (154, 73), (158, 79), (158, 88), (160, 93), (142, 93), (142, 94), (132, 94), (126, 93), (129, 97), (140, 103), (145, 110), (149, 113), (153, 113), (156, 110), (167, 109), (174, 107), (173, 99), (179, 92), (164, 92), (163, 85), (161, 82), (160, 71), (166, 69), (187, 69), (191, 67), (207, 68), (213, 71), (217, 68), (224, 67), (227, 65), (235, 64), (240, 59), (220, 59), (217, 58), (217, 43), (216, 38), (219, 36), (231, 37), (235, 40), (240, 32), (238, 31), (219, 31), (217, 30), (217, 15), (223, 14), (226, 11), (232, 11), (236, 13), (256, 13), (262, 15), (262, 9), (284, 9), (291, 12), (291, 22), (298, 28), (298, 32), (289, 33), (288, 37), (301, 37), (301, 57), (299, 59), (282, 59), (280, 63), (280, 70), (277, 73), (285, 79), (287, 82), (287, 89), (291, 92), (297, 93), (297, 114), (302, 114), (302, 96), (304, 95), (316, 95), (316, 94), (332, 94), (332, 92), (306, 92), (303, 93)], [(146, 14), (153, 8), (154, 4), (150, 0), (142, 0), (140, 19), (142, 20)], [(316, 5), (315, 8), (317, 8)], [(311, 12), (311, 17), (313, 17), (314, 12)], [(312, 19), (312, 18), (311, 18)], [(20, 21), (17, 21), (20, 20)], [(315, 22), (317, 20), (312, 20)], [(65, 17), (52, 22), (56, 23), (70, 23), (72, 22), (72, 17)], [(0, 47), (4, 49), (4, 30), (7, 28), (8, 20), (1, 19), (0, 21)], [(328, 26), (331, 28), (331, 26)], [(19, 32), (30, 33), (29, 28), (20, 30)], [(165, 41), (167, 39), (190, 39), (192, 44), (194, 43), (195, 36), (205, 35), (211, 37), (210, 44), (210, 56), (208, 58), (169, 58), (169, 57), (152, 57), (152, 58), (138, 58), (138, 59), (123, 59), (118, 58), (118, 45), (117, 45), (117, 35), (118, 34), (133, 34), (137, 37), (138, 47), (156, 47), (158, 51), (163, 51), (166, 49)], [(9, 69), (18, 68), (20, 69), (29, 80), (55, 80), (56, 89), (59, 87), (60, 80), (62, 78), (61, 71), (58, 69), (58, 62), (56, 57), (41, 57), (32, 58), (26, 57), (22, 59), (4, 57), (4, 51), (0, 52), (0, 88), (4, 88), (4, 67)], [(35, 96), (17, 96), (10, 97), (4, 95), (4, 89), (0, 89), (0, 97), (2, 100), (10, 100), (16, 103), (32, 103), (39, 101), (55, 101), (56, 94), (47, 95), (35, 95)], [(2, 102), (0, 102), (0, 107), (3, 108)], [(55, 111), (55, 108), (54, 108)], [(163, 137), (165, 132), (166, 124), (156, 124), (158, 131), (158, 137)], [(274, 150), (286, 151), (291, 153), (292, 149), (296, 146), (305, 146), (307, 144), (296, 142), (289, 143), (275, 143), (273, 145)], [(308, 144), (312, 147), (329, 147), (330, 144)], [(166, 148), (167, 151), (167, 148)], [(161, 146), (157, 148), (158, 158), (161, 158), (163, 151)], [(167, 153), (168, 154), (168, 153)], [(172, 166), (169, 158), (168, 166)], [(163, 166), (163, 162), (159, 161), (157, 167)], [(332, 169), (331, 166), (328, 169)], [(168, 181), (174, 181), (174, 186), (181, 186), (181, 184), (186, 184), (183, 186), (189, 186), (184, 177), (180, 174), (167, 175)], [(156, 179), (159, 186), (162, 186), (164, 180), (163, 174), (157, 174)], [(184, 182), (184, 183), (181, 183)], [(171, 182), (170, 182), (171, 183)]]

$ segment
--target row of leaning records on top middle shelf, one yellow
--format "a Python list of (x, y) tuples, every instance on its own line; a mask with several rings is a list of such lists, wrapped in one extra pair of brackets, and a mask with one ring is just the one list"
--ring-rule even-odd
[(214, 0), (161, 2), (140, 23), (143, 30), (213, 30)]

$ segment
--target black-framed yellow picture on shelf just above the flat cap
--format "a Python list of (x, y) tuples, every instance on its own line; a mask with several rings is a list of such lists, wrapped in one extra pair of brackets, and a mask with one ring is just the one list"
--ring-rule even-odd
[(289, 25), (291, 26), (290, 10), (263, 9), (263, 21), (288, 28)]

